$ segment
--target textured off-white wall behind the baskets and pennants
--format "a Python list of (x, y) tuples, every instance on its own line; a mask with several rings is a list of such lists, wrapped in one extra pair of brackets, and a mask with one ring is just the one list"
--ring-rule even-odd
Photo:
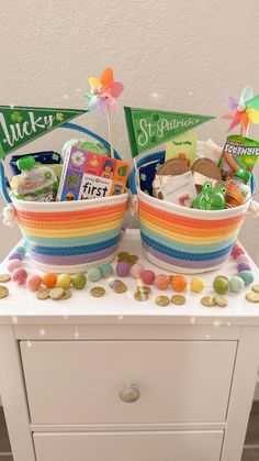
[[(110, 65), (125, 85), (115, 116), (115, 144), (125, 158), (123, 105), (221, 114), (227, 110), (225, 95), (237, 97), (247, 83), (259, 91), (258, 0), (9, 0), (0, 6), (0, 103), (85, 107), (87, 77)], [(78, 120), (106, 136), (102, 117)], [(201, 127), (200, 138), (223, 143), (226, 127), (223, 121)], [(259, 138), (259, 127), (254, 133)], [(68, 132), (57, 130), (26, 149), (60, 150), (66, 139)], [(243, 231), (257, 257), (258, 229), (247, 219)], [(1, 224), (0, 232), (3, 255), (19, 232)]]

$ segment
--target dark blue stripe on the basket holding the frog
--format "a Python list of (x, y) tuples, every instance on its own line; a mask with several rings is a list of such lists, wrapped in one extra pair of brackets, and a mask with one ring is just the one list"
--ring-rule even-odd
[(154, 241), (153, 239), (150, 239), (149, 237), (145, 235), (143, 231), (140, 231), (140, 235), (144, 243), (146, 243), (148, 246), (151, 246), (153, 249), (160, 251), (161, 253), (168, 254), (169, 256), (174, 256), (179, 260), (187, 260), (187, 261), (215, 260), (216, 257), (221, 257), (229, 253), (233, 248), (233, 244), (232, 244), (232, 245), (225, 246), (224, 250), (221, 250), (221, 251), (214, 251), (212, 253), (192, 254), (192, 253), (184, 253), (182, 251), (177, 251), (168, 246), (165, 246), (164, 244), (158, 243)]

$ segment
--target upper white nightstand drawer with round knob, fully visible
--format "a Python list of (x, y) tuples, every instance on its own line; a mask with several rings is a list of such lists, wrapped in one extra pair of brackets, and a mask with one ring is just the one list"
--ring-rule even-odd
[(21, 353), (34, 424), (219, 422), (236, 342), (22, 341)]

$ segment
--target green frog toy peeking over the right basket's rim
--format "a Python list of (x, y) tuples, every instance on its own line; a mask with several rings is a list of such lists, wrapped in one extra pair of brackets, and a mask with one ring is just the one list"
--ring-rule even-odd
[(193, 208), (200, 210), (224, 210), (226, 206), (226, 187), (213, 187), (206, 182), (193, 201)]

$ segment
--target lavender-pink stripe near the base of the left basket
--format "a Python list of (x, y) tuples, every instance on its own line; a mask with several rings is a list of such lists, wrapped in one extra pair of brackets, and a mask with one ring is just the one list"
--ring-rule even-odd
[(44, 255), (34, 253), (33, 251), (29, 250), (29, 254), (32, 260), (40, 262), (41, 264), (56, 264), (56, 265), (77, 265), (77, 264), (87, 264), (91, 262), (98, 262), (100, 260), (104, 260), (105, 257), (111, 256), (111, 254), (115, 253), (119, 243), (113, 246), (109, 246), (109, 249), (98, 251), (95, 253), (89, 254), (80, 254), (80, 255), (72, 255), (72, 256), (54, 256), (54, 255)]

